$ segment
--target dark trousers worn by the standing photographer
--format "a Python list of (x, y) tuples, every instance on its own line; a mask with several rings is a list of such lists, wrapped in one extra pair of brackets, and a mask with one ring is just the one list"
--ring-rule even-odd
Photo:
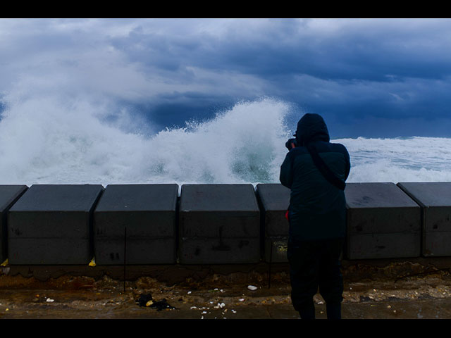
[(313, 296), (318, 292), (326, 301), (328, 318), (341, 318), (343, 279), (340, 254), (343, 239), (288, 241), (291, 299), (301, 318), (314, 318)]

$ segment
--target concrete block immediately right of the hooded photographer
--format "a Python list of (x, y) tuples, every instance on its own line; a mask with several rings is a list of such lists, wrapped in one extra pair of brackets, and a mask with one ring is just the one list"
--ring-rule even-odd
[(394, 183), (347, 183), (347, 258), (421, 253), (421, 210)]

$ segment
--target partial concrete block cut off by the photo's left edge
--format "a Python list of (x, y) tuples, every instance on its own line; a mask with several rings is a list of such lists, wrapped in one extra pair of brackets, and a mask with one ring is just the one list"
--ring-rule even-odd
[(8, 257), (8, 210), (27, 189), (26, 185), (0, 185), (0, 262)]

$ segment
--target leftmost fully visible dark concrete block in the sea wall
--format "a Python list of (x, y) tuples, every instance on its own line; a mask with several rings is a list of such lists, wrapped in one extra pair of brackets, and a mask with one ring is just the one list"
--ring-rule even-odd
[(20, 264), (87, 264), (99, 184), (35, 184), (8, 211), (8, 260)]

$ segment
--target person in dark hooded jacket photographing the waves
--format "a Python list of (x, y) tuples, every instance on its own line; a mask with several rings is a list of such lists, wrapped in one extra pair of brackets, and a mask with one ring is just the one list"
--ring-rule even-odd
[(280, 183), (291, 190), (287, 256), (292, 304), (302, 319), (314, 319), (313, 296), (319, 291), (327, 318), (339, 319), (350, 155), (342, 144), (330, 143), (321, 115), (302, 116), (294, 136), (285, 144), (288, 154), (280, 167)]

